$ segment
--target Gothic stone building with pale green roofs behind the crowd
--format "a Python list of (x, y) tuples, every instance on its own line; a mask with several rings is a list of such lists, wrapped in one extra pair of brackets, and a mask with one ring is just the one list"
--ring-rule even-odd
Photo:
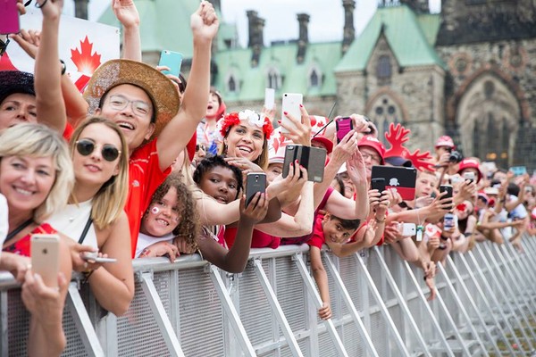
[[(144, 14), (144, 59), (157, 62), (159, 52), (172, 46), (191, 54), (188, 21), (168, 25), (157, 14), (184, 12), (194, 3), (137, 2)], [(215, 2), (218, 10), (220, 3)], [(310, 113), (327, 115), (337, 102), (336, 114), (364, 113), (381, 131), (390, 122), (404, 124), (412, 130), (411, 148), (431, 149), (447, 133), (466, 156), (536, 169), (532, 0), (442, 0), (435, 14), (428, 0), (382, 0), (358, 36), (354, 0), (340, 5), (341, 41), (310, 42), (307, 27), (315, 19), (306, 13), (297, 14), (297, 39), (269, 46), (259, 12), (247, 12), (246, 48), (238, 46), (234, 25), (223, 23), (214, 46), (213, 81), (228, 108), (259, 110), (265, 87), (275, 88), (276, 98), (303, 93)], [(109, 15), (104, 22), (113, 21)], [(145, 28), (144, 21), (150, 22)]]

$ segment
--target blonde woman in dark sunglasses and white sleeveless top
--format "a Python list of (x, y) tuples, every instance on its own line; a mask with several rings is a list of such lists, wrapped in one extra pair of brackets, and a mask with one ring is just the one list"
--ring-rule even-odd
[[(91, 118), (80, 123), (71, 137), (75, 184), (68, 206), (48, 222), (73, 242), (98, 249), (100, 257), (73, 269), (82, 271), (96, 300), (107, 311), (121, 315), (134, 295), (130, 260), (130, 230), (123, 208), (128, 190), (128, 149), (113, 121)], [(74, 262), (75, 260), (73, 260)], [(80, 260), (78, 260), (80, 262)]]

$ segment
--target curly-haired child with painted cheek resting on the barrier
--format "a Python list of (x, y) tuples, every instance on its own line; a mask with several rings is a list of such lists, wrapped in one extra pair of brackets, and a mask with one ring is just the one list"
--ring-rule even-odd
[(173, 239), (184, 237), (186, 244), (195, 250), (198, 233), (196, 202), (180, 180), (180, 173), (174, 171), (156, 189), (141, 220), (136, 258), (168, 255), (174, 262), (179, 249), (173, 245)]

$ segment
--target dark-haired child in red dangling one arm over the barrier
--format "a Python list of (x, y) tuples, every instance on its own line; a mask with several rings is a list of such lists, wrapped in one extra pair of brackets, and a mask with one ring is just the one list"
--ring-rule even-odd
[(321, 224), (315, 225), (313, 234), (307, 244), (310, 246), (311, 270), (313, 270), (314, 281), (316, 281), (322, 299), (322, 307), (318, 309), (318, 316), (322, 320), (328, 320), (331, 319), (330, 288), (328, 286), (328, 275), (322, 264), (322, 245), (326, 241), (337, 244), (348, 242), (350, 237), (356, 233), (361, 221), (342, 220), (330, 213), (327, 213), (321, 220)]

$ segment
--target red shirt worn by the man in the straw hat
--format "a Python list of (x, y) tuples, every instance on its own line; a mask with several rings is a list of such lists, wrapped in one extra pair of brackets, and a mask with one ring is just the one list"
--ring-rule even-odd
[(132, 258), (138, 244), (141, 218), (151, 203), (156, 188), (172, 171), (171, 168), (160, 170), (160, 159), (156, 150), (156, 140), (138, 147), (130, 155), (129, 161), (129, 196), (125, 204), (125, 212), (129, 217), (130, 250)]

